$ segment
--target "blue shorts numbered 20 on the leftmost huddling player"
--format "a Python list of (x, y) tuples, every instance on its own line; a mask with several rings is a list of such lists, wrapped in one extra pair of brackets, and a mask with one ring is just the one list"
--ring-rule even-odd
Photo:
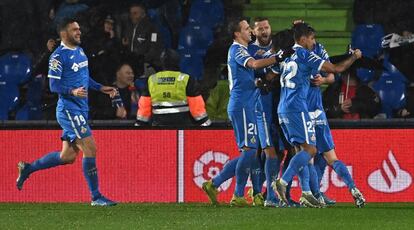
[(257, 149), (256, 114), (254, 109), (228, 111), (239, 149), (244, 146)]

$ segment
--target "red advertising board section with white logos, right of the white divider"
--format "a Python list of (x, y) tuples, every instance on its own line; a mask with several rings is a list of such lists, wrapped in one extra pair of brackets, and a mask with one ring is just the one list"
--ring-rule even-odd
[[(414, 202), (414, 130), (358, 129), (333, 130), (338, 157), (347, 165), (368, 202)], [(185, 201), (205, 202), (202, 181), (222, 169), (223, 163), (238, 155), (233, 132), (185, 132)], [(234, 178), (224, 183), (220, 201), (228, 202), (234, 190)], [(345, 184), (327, 168), (321, 190), (339, 202), (352, 201)], [(292, 194), (299, 196), (297, 182)]]

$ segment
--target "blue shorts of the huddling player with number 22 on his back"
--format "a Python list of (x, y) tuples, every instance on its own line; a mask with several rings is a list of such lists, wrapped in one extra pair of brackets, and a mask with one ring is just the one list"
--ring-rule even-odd
[(308, 113), (279, 113), (279, 124), (291, 145), (307, 143), (316, 146), (315, 127)]

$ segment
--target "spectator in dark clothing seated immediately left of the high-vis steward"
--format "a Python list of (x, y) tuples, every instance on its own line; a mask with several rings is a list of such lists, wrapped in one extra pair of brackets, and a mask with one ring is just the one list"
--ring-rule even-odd
[(117, 89), (117, 95), (112, 99), (96, 96), (91, 103), (92, 119), (135, 119), (138, 95), (134, 86), (134, 71), (129, 64), (122, 63), (115, 75), (113, 87)]

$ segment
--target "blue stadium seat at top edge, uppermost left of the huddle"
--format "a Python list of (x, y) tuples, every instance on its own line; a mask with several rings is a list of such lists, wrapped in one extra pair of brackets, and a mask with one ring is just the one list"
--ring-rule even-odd
[(210, 28), (224, 20), (224, 6), (221, 0), (194, 0), (191, 3), (189, 23), (198, 23)]

